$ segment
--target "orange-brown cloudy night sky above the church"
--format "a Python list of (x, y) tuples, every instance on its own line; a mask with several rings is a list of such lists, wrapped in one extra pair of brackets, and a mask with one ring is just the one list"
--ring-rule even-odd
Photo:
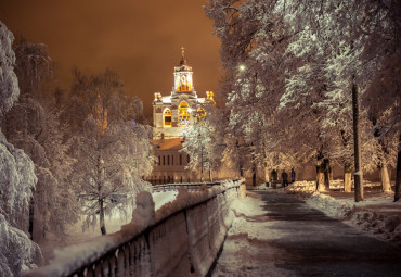
[(152, 115), (154, 92), (169, 95), (181, 47), (198, 97), (218, 90), (219, 40), (205, 0), (0, 0), (0, 21), (14, 36), (48, 45), (69, 90), (72, 68), (120, 74), (129, 95)]

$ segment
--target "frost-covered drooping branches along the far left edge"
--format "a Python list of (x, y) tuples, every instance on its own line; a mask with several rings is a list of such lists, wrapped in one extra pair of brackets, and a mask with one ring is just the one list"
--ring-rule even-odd
[[(0, 22), (0, 121), (20, 95), (13, 71), (14, 36)], [(34, 164), (0, 131), (0, 273), (20, 276), (43, 262), (39, 247), (28, 236), (29, 203), (37, 178)]]

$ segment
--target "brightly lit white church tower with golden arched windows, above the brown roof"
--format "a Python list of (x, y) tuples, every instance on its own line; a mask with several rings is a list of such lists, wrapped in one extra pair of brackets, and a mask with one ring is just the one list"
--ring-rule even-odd
[(207, 91), (207, 98), (198, 98), (193, 84), (192, 67), (185, 60), (184, 48), (179, 66), (174, 67), (174, 87), (170, 96), (163, 97), (155, 92), (153, 101), (154, 138), (180, 138), (183, 127), (193, 125), (205, 116), (205, 104), (214, 102), (212, 92)]

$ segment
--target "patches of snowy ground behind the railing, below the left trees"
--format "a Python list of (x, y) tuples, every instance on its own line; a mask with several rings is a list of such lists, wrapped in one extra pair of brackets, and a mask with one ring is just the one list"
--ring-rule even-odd
[[(178, 194), (177, 190), (154, 192), (153, 201), (155, 202), (155, 210), (165, 205), (166, 203), (172, 202)], [(105, 225), (107, 234), (113, 234), (121, 229), (122, 225), (131, 222), (132, 207), (126, 213), (120, 211), (113, 211), (109, 216), (105, 217)], [(53, 234), (47, 234), (47, 239), (39, 242), (42, 251), (46, 264), (54, 256), (54, 251), (65, 248), (67, 245), (79, 244), (87, 241), (94, 241), (102, 237), (99, 228), (99, 221), (96, 226), (91, 226), (89, 229), (82, 230), (83, 217), (75, 225), (69, 226), (67, 229), (66, 237), (55, 236)]]

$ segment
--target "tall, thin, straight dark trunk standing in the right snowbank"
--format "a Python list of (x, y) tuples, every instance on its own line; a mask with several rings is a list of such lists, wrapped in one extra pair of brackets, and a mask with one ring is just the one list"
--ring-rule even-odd
[(355, 202), (363, 201), (363, 176), (361, 168), (361, 150), (360, 150), (360, 134), (359, 134), (359, 102), (358, 89), (352, 75), (352, 117), (353, 117), (353, 150), (354, 150), (354, 199)]

